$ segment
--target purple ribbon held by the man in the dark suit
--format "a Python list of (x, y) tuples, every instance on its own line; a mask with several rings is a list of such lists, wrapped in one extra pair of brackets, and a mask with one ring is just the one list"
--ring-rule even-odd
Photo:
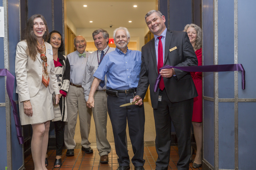
[[(189, 72), (241, 71), (242, 89), (243, 90), (245, 89), (245, 71), (242, 64), (203, 65), (203, 66), (186, 66), (186, 67), (175, 67), (175, 66), (165, 65), (164, 67), (160, 68), (159, 71), (162, 69), (170, 69), (170, 68), (180, 69), (180, 70), (189, 71)], [(158, 74), (155, 85), (154, 85), (154, 92), (157, 92), (161, 78), (162, 78), (161, 74)]]

